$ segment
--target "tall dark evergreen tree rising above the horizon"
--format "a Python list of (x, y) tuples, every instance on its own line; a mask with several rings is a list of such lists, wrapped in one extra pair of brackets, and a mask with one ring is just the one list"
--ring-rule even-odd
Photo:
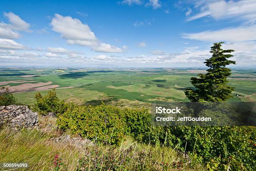
[(232, 57), (234, 50), (223, 50), (221, 44), (224, 42), (214, 43), (210, 53), (212, 57), (204, 63), (209, 67), (206, 74), (198, 74), (199, 78), (192, 77), (191, 83), (196, 90), (187, 89), (185, 95), (190, 101), (226, 101), (232, 97), (231, 92), (234, 87), (227, 85), (227, 77), (231, 75), (231, 70), (225, 68), (226, 65), (236, 64), (233, 60), (228, 60)]

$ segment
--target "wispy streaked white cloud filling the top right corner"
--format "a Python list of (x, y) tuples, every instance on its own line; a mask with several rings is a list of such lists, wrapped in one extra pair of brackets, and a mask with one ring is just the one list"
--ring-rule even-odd
[(196, 1), (195, 8), (199, 8), (201, 13), (191, 16), (187, 21), (209, 16), (215, 20), (232, 19), (234, 21), (243, 20), (246, 23), (256, 22), (256, 1)]

